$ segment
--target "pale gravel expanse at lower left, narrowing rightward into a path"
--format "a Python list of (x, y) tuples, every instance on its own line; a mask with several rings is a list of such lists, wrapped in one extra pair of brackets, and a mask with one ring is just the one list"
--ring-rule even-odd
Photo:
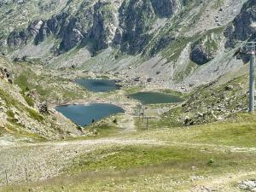
[[(162, 145), (155, 140), (134, 140), (106, 138), (48, 143), (12, 143), (0, 147), (0, 185), (9, 183), (37, 181), (55, 177), (72, 164), (73, 159), (97, 148), (113, 145), (150, 144)], [(5, 173), (6, 172), (6, 173)]]

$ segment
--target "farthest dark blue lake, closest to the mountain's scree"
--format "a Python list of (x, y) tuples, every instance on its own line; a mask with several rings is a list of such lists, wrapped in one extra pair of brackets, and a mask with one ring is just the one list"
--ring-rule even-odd
[(75, 82), (93, 92), (109, 92), (120, 88), (115, 80), (108, 79), (76, 79)]

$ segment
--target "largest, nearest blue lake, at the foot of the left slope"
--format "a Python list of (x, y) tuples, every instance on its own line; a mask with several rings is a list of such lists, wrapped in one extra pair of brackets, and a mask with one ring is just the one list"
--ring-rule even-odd
[(91, 103), (88, 105), (64, 105), (58, 106), (55, 109), (80, 126), (90, 125), (93, 120), (97, 121), (112, 114), (125, 113), (123, 108), (105, 103)]

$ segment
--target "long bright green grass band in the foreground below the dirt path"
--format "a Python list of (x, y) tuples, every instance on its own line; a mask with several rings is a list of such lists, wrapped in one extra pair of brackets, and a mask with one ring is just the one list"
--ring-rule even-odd
[[(238, 154), (200, 148), (166, 146), (113, 146), (84, 154), (73, 160), (65, 172), (98, 172), (149, 168), (190, 170), (196, 166), (204, 172), (214, 172), (215, 168), (232, 169), (232, 166), (247, 165), (253, 160), (251, 154)], [(241, 163), (242, 162), (242, 163)], [(218, 170), (219, 172), (220, 170)]]

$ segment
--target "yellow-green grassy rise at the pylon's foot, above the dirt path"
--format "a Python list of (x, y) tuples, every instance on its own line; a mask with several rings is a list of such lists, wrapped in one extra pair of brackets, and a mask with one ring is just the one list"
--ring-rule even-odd
[(200, 125), (198, 133), (191, 137), (200, 143), (217, 143), (240, 147), (256, 147), (256, 116), (241, 113), (227, 122)]

